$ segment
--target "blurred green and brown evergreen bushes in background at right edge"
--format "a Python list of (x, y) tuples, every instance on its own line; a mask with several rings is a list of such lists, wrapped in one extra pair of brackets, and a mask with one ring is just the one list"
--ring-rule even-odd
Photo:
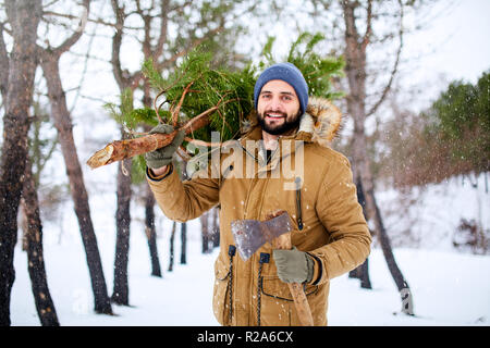
[(383, 167), (400, 187), (490, 171), (490, 74), (451, 83), (430, 108), (399, 115), (384, 132)]

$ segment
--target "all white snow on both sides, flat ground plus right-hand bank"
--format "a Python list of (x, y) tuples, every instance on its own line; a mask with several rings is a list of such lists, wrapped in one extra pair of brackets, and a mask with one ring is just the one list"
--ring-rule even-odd
[[(112, 294), (115, 250), (113, 182), (100, 182), (103, 176), (114, 178), (114, 167), (91, 182), (90, 208), (109, 295)], [(362, 289), (357, 279), (347, 275), (332, 279), (329, 297), (329, 324), (339, 325), (490, 325), (490, 256), (460, 253), (451, 248), (451, 236), (461, 217), (478, 217), (489, 228), (490, 194), (482, 194), (461, 179), (429, 187), (419, 195), (406, 223), (415, 223), (416, 243), (408, 248), (397, 247), (394, 254), (405, 275), (413, 296), (416, 316), (400, 314), (401, 298), (388, 271), (381, 250), (375, 244), (369, 259), (372, 290)], [(111, 191), (111, 194), (107, 194)], [(479, 196), (475, 196), (479, 195)], [(389, 214), (397, 199), (393, 191), (380, 195), (380, 206), (387, 216), (389, 232), (404, 226)], [(396, 207), (395, 209), (396, 210)], [(56, 222), (45, 222), (45, 261), (48, 284), (61, 325), (218, 325), (211, 309), (213, 262), (218, 250), (200, 253), (199, 222), (188, 223), (187, 264), (180, 264), (180, 228), (175, 234), (174, 271), (168, 272), (171, 222), (157, 211), (158, 249), (163, 277), (150, 276), (150, 259), (143, 228), (143, 208), (132, 206), (130, 246), (130, 303), (113, 306), (117, 315), (93, 312), (93, 297), (85, 252), (71, 203)], [(471, 215), (473, 214), (473, 215)], [(401, 239), (402, 238), (402, 239)], [(403, 240), (402, 235), (392, 239)], [(416, 246), (416, 247), (415, 247)], [(20, 244), (15, 250), (16, 278), (12, 288), (12, 325), (39, 325), (27, 257)]]

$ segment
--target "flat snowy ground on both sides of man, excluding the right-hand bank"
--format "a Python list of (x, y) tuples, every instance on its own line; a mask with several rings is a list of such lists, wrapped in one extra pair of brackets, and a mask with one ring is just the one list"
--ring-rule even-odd
[[(143, 234), (134, 233), (130, 254), (132, 307), (115, 307), (118, 315), (94, 314), (89, 278), (81, 244), (64, 241), (46, 247), (48, 282), (62, 325), (218, 325), (211, 311), (212, 263), (216, 251), (201, 254), (197, 225), (189, 229), (187, 264), (167, 272), (168, 238), (159, 239), (162, 278), (150, 276)], [(109, 291), (112, 290), (114, 244), (100, 244)], [(179, 248), (176, 248), (179, 250)], [(176, 259), (179, 260), (179, 251)], [(346, 275), (332, 281), (330, 325), (489, 325), (490, 257), (417, 249), (396, 249), (395, 257), (413, 290), (415, 313), (400, 314), (401, 301), (381, 250), (372, 250), (372, 290), (359, 288)], [(16, 281), (12, 289), (12, 324), (39, 325), (26, 254), (15, 252)], [(393, 314), (393, 313), (399, 314)]]

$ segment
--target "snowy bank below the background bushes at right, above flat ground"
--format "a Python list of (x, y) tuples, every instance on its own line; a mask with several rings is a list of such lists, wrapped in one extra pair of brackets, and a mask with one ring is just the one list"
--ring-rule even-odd
[[(485, 175), (471, 179), (457, 176), (439, 185), (415, 187), (405, 195), (379, 189), (377, 198), (395, 246), (454, 251), (454, 232), (462, 219), (490, 231), (490, 192)], [(404, 233), (408, 229), (409, 235)]]

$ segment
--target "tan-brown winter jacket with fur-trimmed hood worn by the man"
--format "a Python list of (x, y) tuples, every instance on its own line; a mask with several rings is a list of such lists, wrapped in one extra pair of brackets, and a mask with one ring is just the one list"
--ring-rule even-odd
[[(310, 98), (298, 130), (294, 136), (280, 137), (280, 147), (269, 163), (258, 147), (247, 147), (247, 140), (261, 138), (256, 125), (234, 144), (233, 150), (221, 150), (218, 169), (210, 165), (195, 174), (208, 177), (182, 183), (173, 170), (160, 181), (148, 177), (169, 219), (192, 220), (220, 206), (220, 252), (215, 262), (212, 299), (220, 324), (301, 325), (289, 287), (277, 275), (270, 244), (247, 261), (238, 252), (230, 256), (235, 244), (230, 228), (234, 220), (266, 220), (277, 210), (289, 212), (295, 225), (293, 246), (315, 259), (313, 281), (305, 285), (315, 325), (327, 325), (330, 279), (355, 269), (368, 257), (371, 238), (357, 202), (350, 163), (328, 147), (340, 124), (339, 115), (328, 101)], [(296, 170), (299, 157), (303, 173)], [(250, 163), (255, 164), (253, 170)], [(294, 167), (294, 173), (283, 163)], [(213, 177), (218, 170), (222, 175)], [(247, 170), (253, 177), (245, 175)], [(212, 171), (215, 175), (210, 175)], [(268, 262), (259, 262), (261, 254)]]

